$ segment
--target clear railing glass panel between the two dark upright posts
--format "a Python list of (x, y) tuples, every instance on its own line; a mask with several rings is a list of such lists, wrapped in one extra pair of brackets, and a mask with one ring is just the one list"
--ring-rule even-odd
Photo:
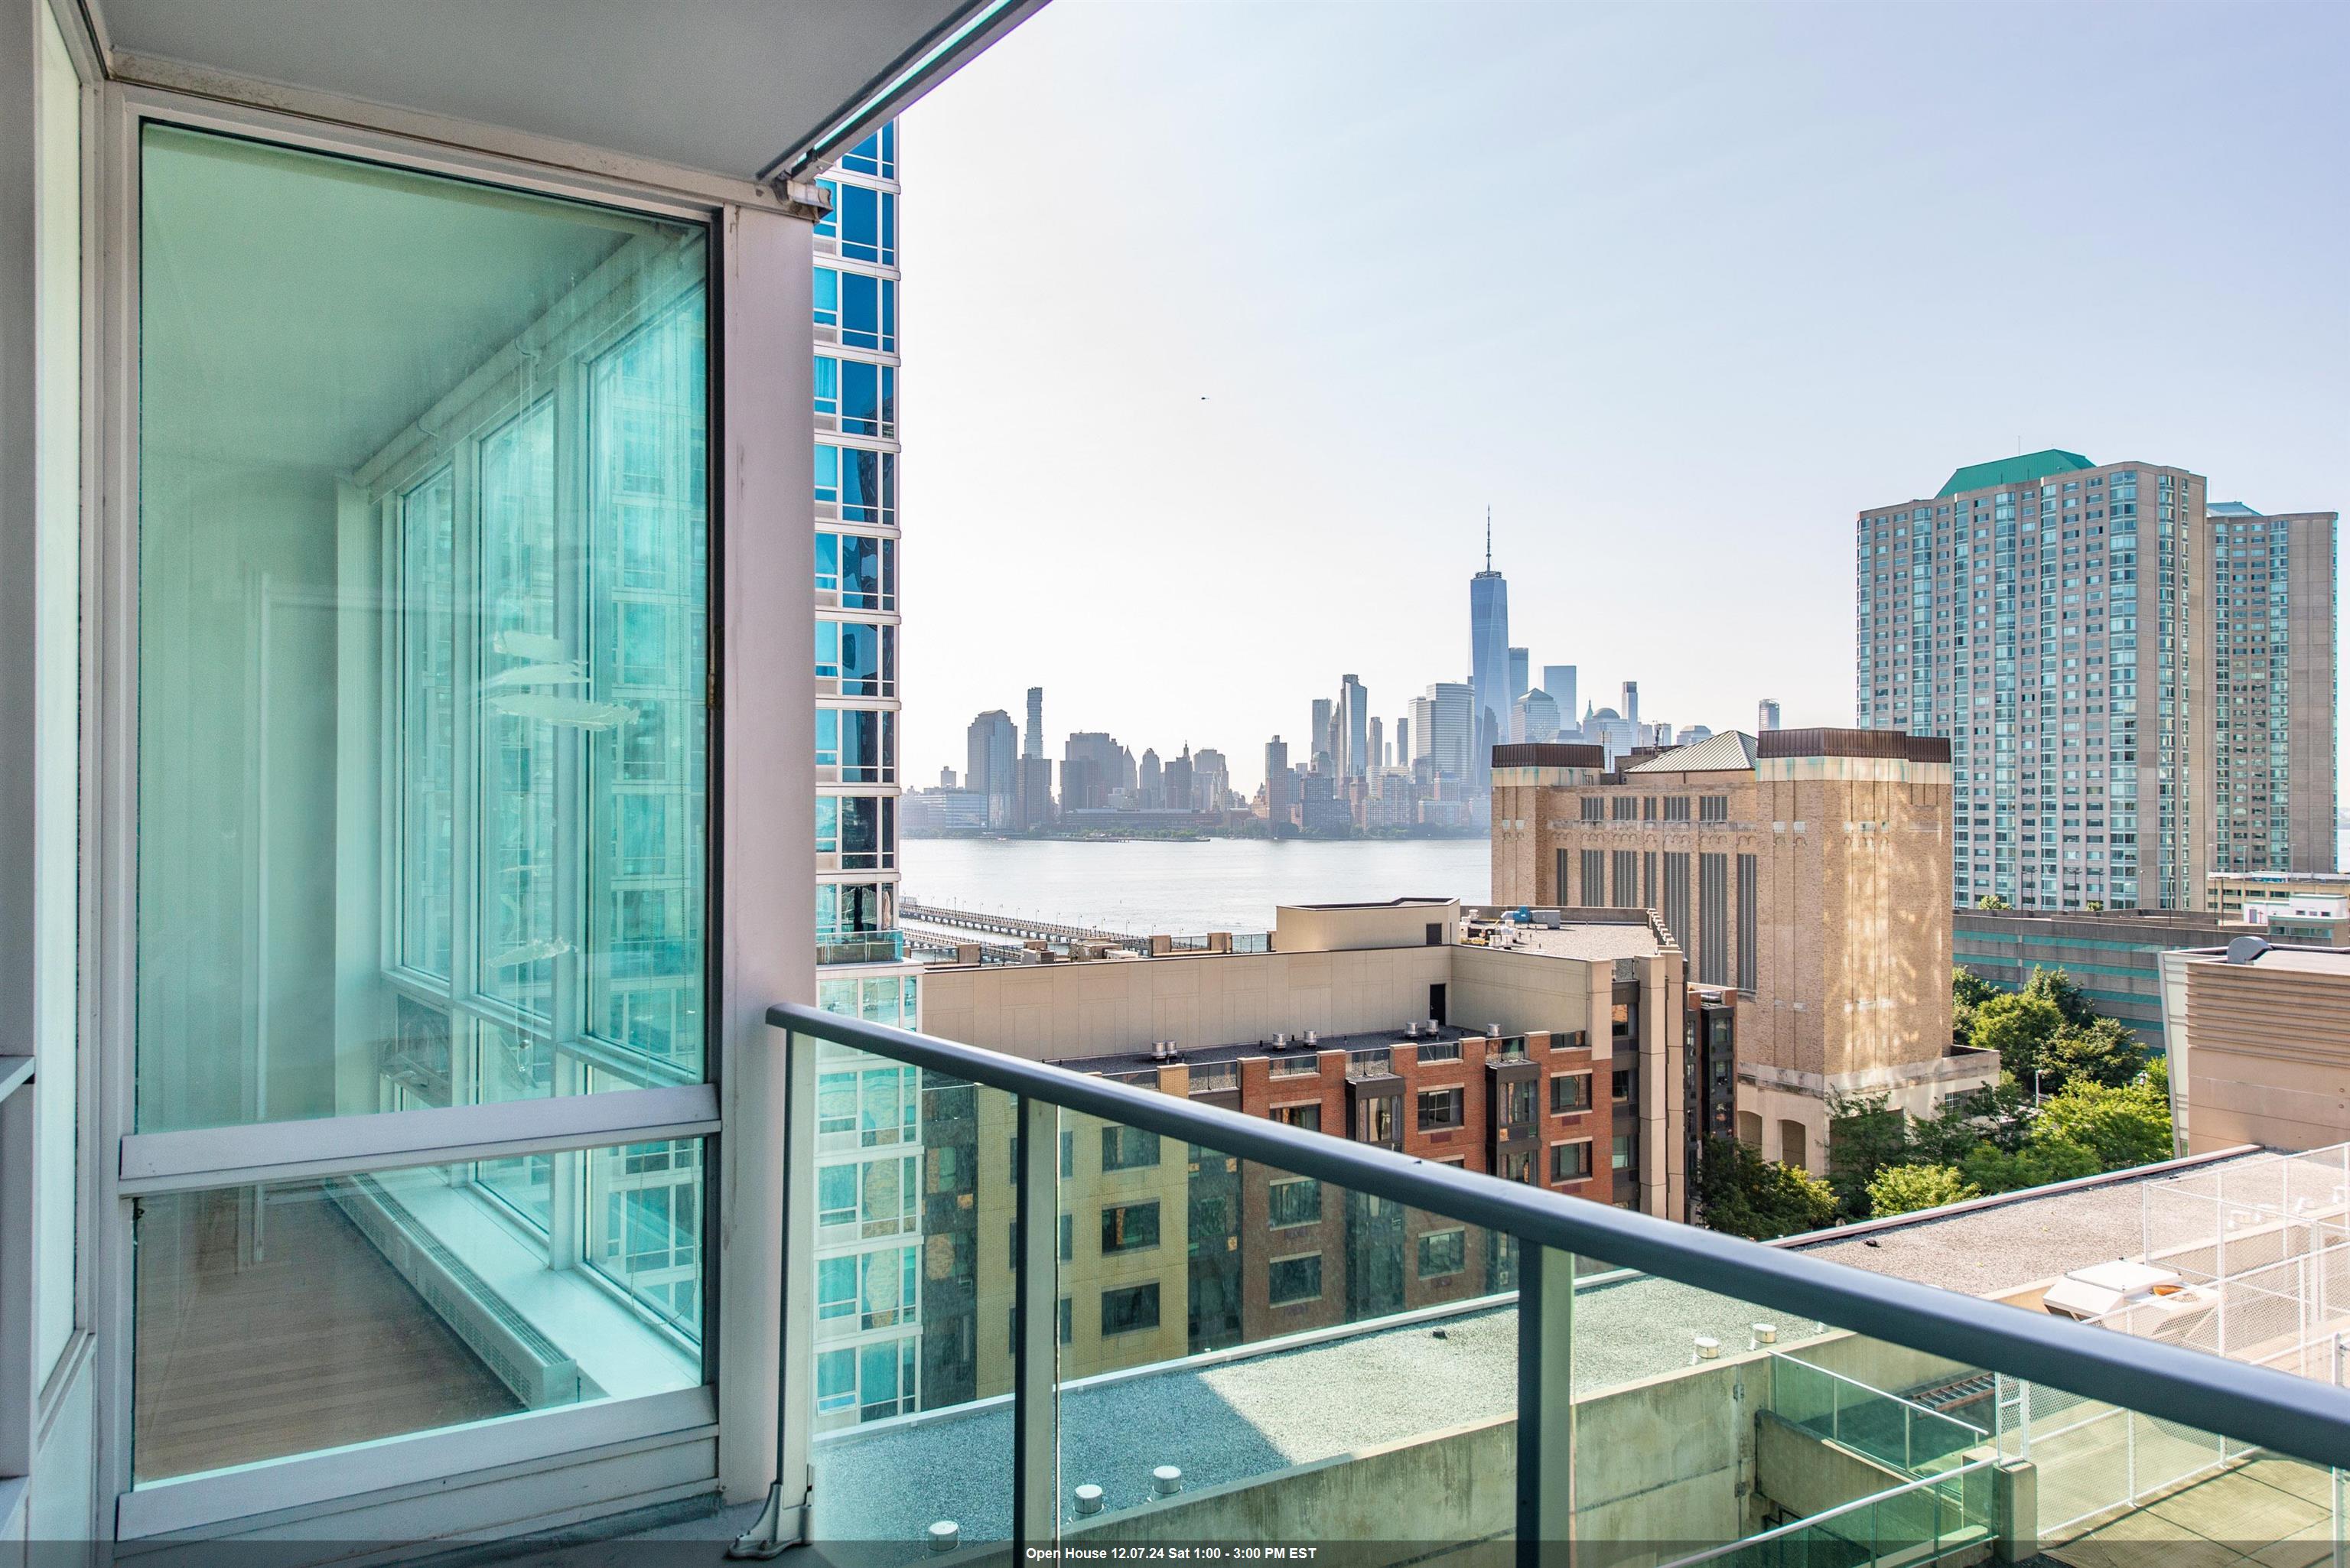
[[(1403, 1544), (1408, 1561), (1422, 1542), (1513, 1535), (1511, 1246), (1114, 1121), (1062, 1112), (1060, 1126), (1060, 1213), (1074, 1244), (1060, 1272), (1058, 1382), (1072, 1544), (1090, 1530), (1217, 1540), (1229, 1530), (1217, 1521), (1288, 1519), (1292, 1540)], [(1384, 1460), (1396, 1465), (1384, 1481), (1328, 1465), (1379, 1450), (1410, 1458)], [(1436, 1486), (1431, 1474), (1464, 1481)], [(1184, 1512), (1182, 1495), (1201, 1488), (1238, 1488), (1217, 1497), (1234, 1512)]]

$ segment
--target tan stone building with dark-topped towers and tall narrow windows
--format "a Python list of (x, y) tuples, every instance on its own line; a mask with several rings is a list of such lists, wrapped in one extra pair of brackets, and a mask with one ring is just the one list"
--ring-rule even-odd
[(1737, 1126), (1826, 1168), (1838, 1095), (1929, 1114), (1998, 1063), (1950, 1048), (1950, 743), (1720, 733), (1605, 769), (1495, 750), (1499, 903), (1654, 910), (1692, 985), (1737, 999)]

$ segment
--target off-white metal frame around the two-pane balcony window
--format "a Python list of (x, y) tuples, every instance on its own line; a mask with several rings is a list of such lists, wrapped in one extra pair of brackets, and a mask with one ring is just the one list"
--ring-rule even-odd
[[(552, 1474), (613, 1443), (632, 1446), (632, 1458), (620, 1460), (625, 1474), (613, 1472), (599, 1483), (618, 1505), (651, 1505), (721, 1488), (736, 1497), (757, 1495), (776, 1474), (780, 1253), (804, 1241), (797, 1234), (785, 1239), (785, 1211), (773, 1197), (783, 1190), (783, 1140), (776, 1131), (705, 1145), (721, 1152), (728, 1168), (719, 1171), (710, 1161), (703, 1180), (705, 1286), (712, 1291), (717, 1335), (724, 1342), (712, 1338), (705, 1345), (700, 1387), (392, 1436), (141, 1490), (129, 1488), (132, 1208), (141, 1194), (247, 1180), (705, 1138), (726, 1126), (728, 1107), (745, 1105), (759, 1107), (761, 1126), (780, 1128), (787, 1114), (787, 1072), (773, 1060), (764, 1009), (771, 1001), (813, 999), (813, 912), (806, 910), (804, 877), (792, 870), (804, 830), (778, 835), (757, 823), (797, 825), (813, 813), (813, 783), (799, 778), (804, 766), (794, 766), (808, 752), (813, 698), (811, 684), (792, 677), (806, 661), (813, 611), (806, 536), (766, 529), (768, 536), (761, 538), (740, 527), (740, 520), (801, 515), (811, 491), (811, 456), (799, 442), (733, 451), (728, 430), (797, 428), (806, 418), (808, 221), (764, 190), (743, 186), (736, 193), (726, 181), (698, 176), (679, 183), (679, 176), (649, 160), (599, 158), (590, 174), (573, 172), (562, 160), (468, 150), (494, 139), (458, 122), (425, 127), (430, 139), (418, 139), (155, 87), (106, 85), (96, 99), (96, 176), (85, 193), (99, 233), (85, 247), (87, 268), (96, 277), (96, 369), (85, 378), (85, 400), (115, 411), (101, 421), (94, 454), (101, 482), (94, 487), (94, 515), (85, 520), (82, 607), (82, 776), (89, 780), (85, 1056), (99, 1081), (89, 1110), (99, 1182), (89, 1199), (85, 1274), (96, 1302), (101, 1526), (113, 1521), (115, 1535), (132, 1540), (207, 1533), (256, 1514), (273, 1514), (277, 1521), (343, 1514), (364, 1521), (367, 1535), (425, 1540), (529, 1519), (533, 1509), (552, 1514), (566, 1507)], [(766, 689), (747, 693), (736, 710), (714, 710), (710, 717), (707, 830), (712, 867), (724, 860), (728, 875), (719, 877), (719, 900), (707, 929), (712, 950), (724, 947), (726, 957), (710, 966), (703, 1084), (228, 1131), (132, 1131), (139, 712), (134, 411), (139, 127), (148, 120), (707, 226), (707, 334), (719, 367), (707, 428), (707, 527), (712, 557), (726, 562), (726, 576), (714, 576), (710, 585), (712, 658), (719, 668), (761, 670)], [(432, 136), (435, 129), (446, 134)], [(757, 616), (747, 614), (750, 604), (759, 607)], [(754, 797), (761, 797), (757, 813), (745, 804)], [(757, 846), (759, 863), (745, 863), (726, 849), (738, 842)], [(733, 1206), (724, 1218), (721, 1197)], [(728, 1248), (719, 1246), (719, 1237), (736, 1234), (740, 1239), (728, 1244)], [(717, 1305), (719, 1293), (726, 1295), (724, 1307)], [(728, 1389), (724, 1399), (721, 1387)], [(724, 1450), (717, 1441), (721, 1432), (728, 1434)], [(679, 1450), (696, 1458), (679, 1465)], [(677, 1479), (696, 1467), (703, 1467), (703, 1479)], [(642, 1490), (630, 1490), (632, 1486)], [(113, 1507), (106, 1500), (115, 1500)]]

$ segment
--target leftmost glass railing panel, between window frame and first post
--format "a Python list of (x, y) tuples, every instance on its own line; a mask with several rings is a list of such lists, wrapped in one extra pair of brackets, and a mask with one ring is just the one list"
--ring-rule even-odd
[(945, 1519), (1008, 1540), (1013, 1095), (837, 1046), (818, 1074), (813, 1540), (886, 1542), (860, 1563), (919, 1561)]

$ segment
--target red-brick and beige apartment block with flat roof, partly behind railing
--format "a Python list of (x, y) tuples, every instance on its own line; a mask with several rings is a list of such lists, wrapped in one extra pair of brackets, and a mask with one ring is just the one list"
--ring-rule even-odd
[[(1690, 992), (1680, 950), (1640, 910), (1283, 907), (1269, 952), (935, 966), (926, 985), (928, 1027), (968, 1044), (1687, 1211)], [(980, 1194), (1013, 1192), (1010, 1114), (1003, 1095), (978, 1105)], [(1502, 1237), (1133, 1128), (1065, 1117), (1060, 1168), (1067, 1375), (1516, 1286)], [(982, 1389), (1010, 1375), (1010, 1211), (987, 1201), (973, 1220)]]

